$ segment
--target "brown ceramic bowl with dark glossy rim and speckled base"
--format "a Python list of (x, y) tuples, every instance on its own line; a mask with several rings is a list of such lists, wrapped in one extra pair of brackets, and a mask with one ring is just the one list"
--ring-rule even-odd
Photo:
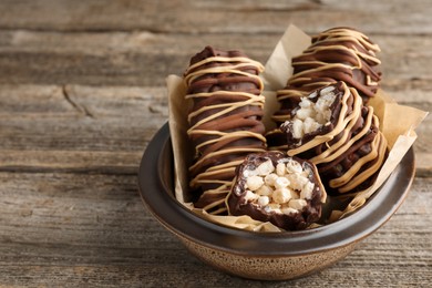
[(228, 228), (193, 214), (174, 197), (173, 167), (165, 124), (148, 144), (138, 172), (140, 193), (153, 216), (216, 269), (251, 279), (285, 280), (337, 263), (389, 220), (409, 192), (414, 154), (410, 150), (384, 185), (352, 215), (319, 228), (285, 233)]

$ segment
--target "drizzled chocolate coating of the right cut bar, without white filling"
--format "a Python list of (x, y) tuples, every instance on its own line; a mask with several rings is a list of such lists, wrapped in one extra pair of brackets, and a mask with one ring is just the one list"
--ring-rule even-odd
[[(322, 128), (317, 130), (313, 133), (305, 134), (302, 140), (296, 140), (292, 137), (292, 128), (290, 124), (288, 125), (281, 125), (280, 131), (286, 133), (286, 140), (287, 140), (287, 147), (288, 153), (290, 155), (294, 155), (296, 153), (291, 153), (292, 150), (296, 150), (297, 147), (301, 147), (302, 145), (307, 144), (310, 141), (313, 141), (316, 136), (318, 135), (327, 135), (328, 133), (331, 133), (331, 131), (335, 128), (336, 123), (340, 119), (346, 119), (349, 115), (352, 115), (352, 119), (349, 122), (344, 122), (347, 126), (343, 127), (341, 132), (336, 134), (330, 141), (327, 141), (325, 143), (317, 143), (313, 144), (310, 148), (300, 151), (297, 156), (310, 160), (312, 163), (317, 165), (317, 168), (319, 171), (319, 174), (321, 176), (321, 179), (326, 186), (326, 189), (329, 194), (336, 194), (339, 193), (338, 187), (330, 187), (330, 182), (332, 179), (342, 177), (346, 175), (346, 173), (349, 173), (350, 168), (362, 157), (367, 155), (374, 155), (370, 153), (377, 153), (379, 152), (379, 147), (382, 143), (379, 145), (373, 146), (372, 151), (372, 142), (377, 140), (377, 137), (383, 138), (383, 135), (379, 131), (378, 127), (378, 120), (373, 121), (372, 119), (372, 111), (369, 106), (361, 105), (354, 105), (354, 99), (357, 97), (359, 100), (359, 94), (356, 93), (356, 90), (352, 88), (349, 89), (347, 85), (341, 85), (342, 83), (339, 82), (338, 84), (331, 84), (335, 86), (333, 93), (336, 93), (337, 97), (332, 105), (330, 105), (331, 112), (331, 119), (330, 119), (330, 125), (323, 126)], [(325, 89), (325, 88), (322, 88)], [(322, 89), (317, 90), (318, 92)], [(340, 114), (341, 111), (341, 99), (343, 94), (346, 93), (346, 90), (349, 90), (350, 96), (348, 97), (349, 101), (347, 101), (348, 110), (344, 115)], [(315, 92), (313, 92), (315, 94)], [(319, 93), (318, 93), (319, 94)], [(315, 102), (318, 100), (318, 96), (313, 100)], [(357, 102), (361, 103), (361, 102)], [(300, 106), (297, 104), (292, 105), (290, 119), (295, 117), (297, 111), (300, 109)], [(352, 114), (358, 113), (358, 114)], [(358, 116), (357, 116), (358, 115)], [(366, 121), (366, 119), (369, 116), (369, 121)], [(372, 119), (372, 120), (371, 120)], [(290, 122), (288, 122), (290, 123)], [(348, 125), (350, 128), (348, 130)], [(337, 144), (342, 136), (344, 136), (343, 143)], [(352, 140), (352, 141), (351, 141)], [(381, 142), (380, 140), (380, 142)], [(338, 146), (336, 146), (338, 145)], [(382, 144), (384, 145), (384, 144)], [(332, 150), (330, 150), (332, 148)], [(329, 153), (326, 153), (328, 150)], [(335, 154), (337, 153), (338, 154)], [(323, 156), (326, 154), (327, 156)], [(323, 155), (321, 155), (323, 154)], [(330, 156), (335, 154), (330, 158)], [(339, 155), (340, 154), (340, 155)], [(318, 160), (319, 158), (319, 160)], [(374, 165), (378, 161), (382, 161), (382, 158), (379, 157), (379, 155), (376, 158), (372, 158), (369, 162), (366, 162), (362, 164), (356, 172), (352, 174), (352, 171), (350, 172), (352, 178), (354, 178), (356, 175), (360, 175), (363, 171), (368, 169), (372, 165)], [(382, 164), (382, 163), (381, 163)], [(380, 164), (380, 165), (381, 165)], [(380, 166), (379, 165), (379, 166)], [(359, 184), (358, 187), (356, 187), (356, 191), (364, 189), (368, 187), (368, 185), (371, 185), (376, 174), (379, 172), (379, 167), (374, 171), (374, 175), (371, 175), (368, 181), (363, 184)], [(338, 184), (339, 185), (339, 184)]]

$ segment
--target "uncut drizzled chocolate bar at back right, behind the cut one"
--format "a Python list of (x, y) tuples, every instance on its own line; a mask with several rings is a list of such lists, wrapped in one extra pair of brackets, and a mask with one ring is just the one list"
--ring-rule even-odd
[[(352, 28), (332, 28), (312, 37), (311, 45), (292, 58), (292, 76), (277, 93), (280, 110), (272, 117), (277, 126), (289, 117), (292, 104), (301, 96), (338, 81), (354, 88), (368, 103), (381, 81), (380, 60), (376, 55), (379, 51), (377, 44)], [(286, 147), (281, 134), (272, 131), (266, 135), (270, 148)]]

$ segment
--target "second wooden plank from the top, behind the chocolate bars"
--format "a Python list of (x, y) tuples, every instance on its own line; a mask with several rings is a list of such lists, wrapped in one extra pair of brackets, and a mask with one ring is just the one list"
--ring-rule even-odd
[[(205, 45), (241, 49), (265, 63), (280, 37), (0, 31), (0, 83), (164, 85)], [(431, 89), (432, 38), (380, 34), (372, 40), (382, 49), (385, 89)]]

